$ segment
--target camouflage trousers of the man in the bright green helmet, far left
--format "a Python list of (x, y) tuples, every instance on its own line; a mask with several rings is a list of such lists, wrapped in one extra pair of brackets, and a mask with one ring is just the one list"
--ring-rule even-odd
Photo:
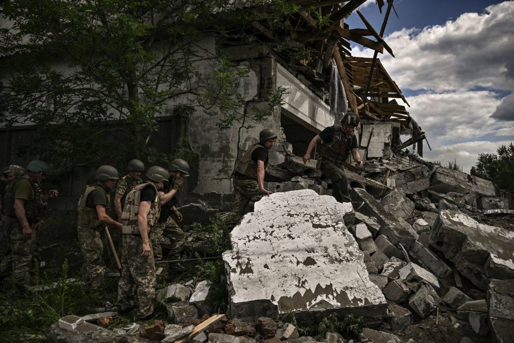
[(34, 267), (33, 259), (38, 253), (38, 230), (33, 229), (30, 239), (25, 240), (20, 221), (7, 217), (4, 233), (7, 238), (7, 255), (2, 259), (2, 272), (8, 273), (11, 269), (11, 275), (16, 282), (29, 284), (30, 273)]

